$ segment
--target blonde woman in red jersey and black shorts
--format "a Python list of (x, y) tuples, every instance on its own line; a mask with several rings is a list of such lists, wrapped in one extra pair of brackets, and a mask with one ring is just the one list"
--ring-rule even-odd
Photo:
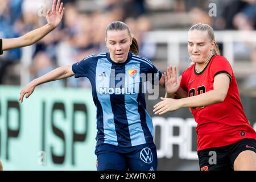
[[(171, 98), (162, 98), (153, 111), (163, 114), (191, 107), (201, 170), (256, 170), (256, 133), (243, 112), (232, 67), (220, 56), (212, 27), (196, 24), (189, 29), (188, 52), (193, 64), (178, 80), (176, 70), (168, 68), (165, 80)], [(212, 154), (216, 163), (209, 162)]]

